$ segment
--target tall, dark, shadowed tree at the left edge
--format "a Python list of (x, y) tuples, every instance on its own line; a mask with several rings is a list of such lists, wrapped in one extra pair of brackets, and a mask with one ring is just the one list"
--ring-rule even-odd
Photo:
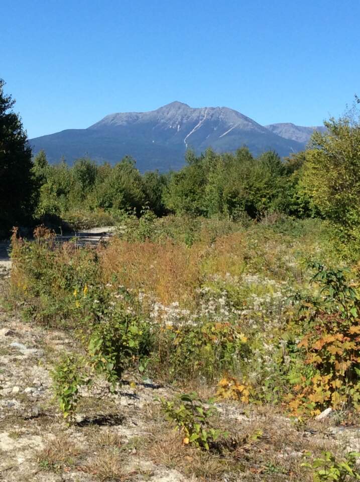
[(4, 92), (0, 79), (0, 230), (27, 223), (36, 202), (33, 162), (15, 100)]

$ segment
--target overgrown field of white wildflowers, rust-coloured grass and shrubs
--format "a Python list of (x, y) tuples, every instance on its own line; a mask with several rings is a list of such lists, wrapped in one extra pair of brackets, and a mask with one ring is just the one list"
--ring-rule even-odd
[[(283, 429), (245, 433), (221, 416), (226, 404), (237, 413), (268, 412), (289, 417), (291, 430), (301, 433), (330, 407), (331, 423), (357, 423), (359, 267), (345, 266), (320, 220), (145, 213), (124, 218), (97, 249), (57, 247), (41, 227), (35, 235), (28, 242), (14, 232), (5, 297), (9, 309), (75, 340), (76, 349), (54, 360), (52, 375), (68, 423), (76, 420), (84, 390), (99, 380), (109, 394), (125, 382), (136, 387), (150, 380), (172, 394), (153, 405), (173, 454), (164, 455), (164, 442), (154, 435), (153, 450), (180, 471), (187, 456), (204, 480), (336, 479), (331, 470), (338, 480), (360, 478), (356, 455), (345, 461), (345, 447), (314, 462), (320, 446), (310, 443), (295, 462), (289, 456), (279, 464), (270, 450), (263, 469), (252, 470), (250, 446), (281, 438)], [(173, 426), (177, 432), (170, 432)], [(208, 471), (201, 474), (205, 461)]]

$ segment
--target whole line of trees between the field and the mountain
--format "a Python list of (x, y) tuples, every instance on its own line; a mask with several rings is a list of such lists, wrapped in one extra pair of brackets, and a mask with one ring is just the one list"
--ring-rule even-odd
[(360, 240), (360, 123), (354, 109), (330, 118), (306, 150), (281, 160), (246, 147), (218, 154), (188, 151), (177, 172), (141, 174), (126, 156), (114, 166), (88, 158), (69, 167), (32, 157), (14, 100), (0, 80), (0, 229), (62, 217), (73, 209), (167, 213), (239, 220), (276, 211), (320, 216), (339, 236)]

